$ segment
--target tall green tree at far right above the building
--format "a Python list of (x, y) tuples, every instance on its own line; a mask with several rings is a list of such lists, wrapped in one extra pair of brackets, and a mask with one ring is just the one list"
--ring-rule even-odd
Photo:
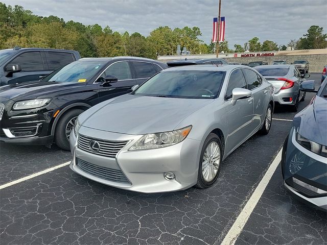
[(327, 47), (327, 34), (323, 34), (323, 28), (311, 26), (308, 32), (300, 38), (296, 45), (298, 50), (312, 50)]

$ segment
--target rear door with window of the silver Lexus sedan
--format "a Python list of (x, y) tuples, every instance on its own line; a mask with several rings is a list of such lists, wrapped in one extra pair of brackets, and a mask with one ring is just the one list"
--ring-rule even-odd
[(242, 68), (248, 89), (252, 91), (253, 97), (253, 128), (257, 130), (265, 118), (266, 105), (268, 103), (268, 89), (262, 86), (262, 78), (253, 70)]

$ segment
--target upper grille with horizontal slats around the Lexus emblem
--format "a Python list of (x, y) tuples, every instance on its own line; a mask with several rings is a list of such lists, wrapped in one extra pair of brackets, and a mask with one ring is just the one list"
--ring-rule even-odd
[[(97, 141), (100, 145), (100, 150), (98, 152), (91, 151), (90, 142)], [(110, 141), (104, 139), (95, 139), (84, 135), (79, 135), (78, 137), (78, 148), (85, 151), (90, 152), (92, 154), (112, 157), (114, 158), (117, 153), (122, 150), (122, 148), (127, 144), (128, 141)]]

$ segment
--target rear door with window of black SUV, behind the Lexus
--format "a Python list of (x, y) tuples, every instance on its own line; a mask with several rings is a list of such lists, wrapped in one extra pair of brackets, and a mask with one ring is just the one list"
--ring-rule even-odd
[[(131, 61), (136, 84), (140, 85), (157, 73), (159, 67), (151, 62)], [(160, 67), (161, 68), (161, 67)], [(162, 70), (162, 69), (161, 69)]]

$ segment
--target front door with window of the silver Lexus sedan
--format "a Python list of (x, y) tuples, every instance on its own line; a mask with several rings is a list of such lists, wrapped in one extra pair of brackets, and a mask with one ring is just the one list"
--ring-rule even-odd
[(247, 89), (247, 84), (240, 68), (231, 72), (225, 92), (224, 105), (228, 119), (227, 153), (240, 145), (253, 131), (253, 99), (250, 97), (238, 100), (235, 105), (232, 105), (230, 101), (234, 88)]

